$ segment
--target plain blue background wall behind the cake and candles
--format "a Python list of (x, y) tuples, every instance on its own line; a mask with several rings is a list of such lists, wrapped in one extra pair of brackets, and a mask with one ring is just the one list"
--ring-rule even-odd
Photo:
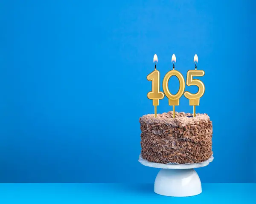
[[(1, 1), (0, 182), (153, 182), (158, 170), (137, 160), (155, 53), (161, 81), (173, 53), (185, 79), (195, 54), (205, 71), (197, 112), (213, 121), (215, 160), (201, 181), (256, 182), (255, 6)], [(176, 111), (192, 107), (182, 97)]]

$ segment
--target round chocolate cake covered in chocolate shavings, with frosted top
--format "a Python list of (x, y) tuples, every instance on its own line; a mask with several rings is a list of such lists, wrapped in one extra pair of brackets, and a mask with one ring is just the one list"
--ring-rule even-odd
[(157, 163), (192, 164), (212, 156), (212, 121), (207, 114), (172, 111), (140, 118), (141, 155)]

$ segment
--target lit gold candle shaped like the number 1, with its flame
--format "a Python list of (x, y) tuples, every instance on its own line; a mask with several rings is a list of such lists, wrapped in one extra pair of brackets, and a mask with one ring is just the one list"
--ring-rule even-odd
[(148, 92), (147, 97), (153, 100), (154, 115), (156, 118), (157, 106), (159, 105), (159, 100), (164, 98), (164, 94), (160, 92), (160, 72), (157, 70), (158, 58), (156, 54), (154, 54), (153, 62), (156, 63), (155, 70), (147, 76), (147, 80), (152, 81), (152, 91)]

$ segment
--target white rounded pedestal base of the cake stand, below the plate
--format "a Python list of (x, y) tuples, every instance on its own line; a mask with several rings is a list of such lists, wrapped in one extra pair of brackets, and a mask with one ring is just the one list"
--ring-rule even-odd
[(187, 197), (202, 193), (201, 181), (194, 169), (161, 169), (154, 182), (160, 195)]

